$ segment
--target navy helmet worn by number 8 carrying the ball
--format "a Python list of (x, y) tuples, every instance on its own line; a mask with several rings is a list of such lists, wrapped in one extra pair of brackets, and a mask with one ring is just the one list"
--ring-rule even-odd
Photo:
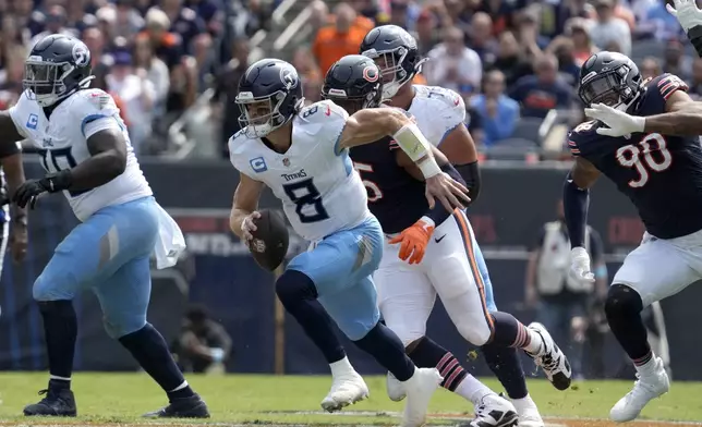
[(246, 136), (264, 137), (288, 123), (304, 103), (298, 71), (279, 59), (262, 59), (246, 70), (235, 99)]

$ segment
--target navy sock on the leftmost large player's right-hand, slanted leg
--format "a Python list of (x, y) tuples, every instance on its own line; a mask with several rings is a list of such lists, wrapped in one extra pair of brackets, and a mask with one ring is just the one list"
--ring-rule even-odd
[(150, 324), (146, 324), (136, 332), (120, 337), (119, 341), (166, 391), (169, 400), (195, 394), (175, 365), (166, 340)]

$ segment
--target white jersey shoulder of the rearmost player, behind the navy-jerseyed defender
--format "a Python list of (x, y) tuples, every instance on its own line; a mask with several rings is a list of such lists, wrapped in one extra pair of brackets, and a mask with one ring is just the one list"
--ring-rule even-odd
[(414, 98), (408, 111), (414, 115), (416, 126), (434, 146), (438, 146), (450, 131), (465, 122), (463, 97), (438, 86), (414, 85)]

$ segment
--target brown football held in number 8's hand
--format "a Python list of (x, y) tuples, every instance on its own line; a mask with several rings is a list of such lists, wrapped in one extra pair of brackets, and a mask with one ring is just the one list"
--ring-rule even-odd
[(256, 231), (249, 243), (249, 251), (256, 263), (268, 271), (274, 271), (288, 253), (289, 235), (286, 220), (270, 209), (261, 210), (261, 218), (254, 220)]

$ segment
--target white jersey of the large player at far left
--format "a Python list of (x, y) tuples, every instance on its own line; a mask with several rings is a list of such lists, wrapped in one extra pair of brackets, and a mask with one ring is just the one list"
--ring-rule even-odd
[(73, 212), (85, 221), (99, 209), (150, 196), (152, 188), (136, 161), (126, 126), (112, 97), (100, 89), (78, 90), (59, 103), (46, 117), (44, 109), (23, 93), (10, 109), (10, 117), (21, 135), (41, 155), (49, 173), (74, 168), (90, 158), (87, 138), (99, 131), (117, 129), (126, 142), (126, 169), (105, 185), (87, 192), (63, 192)]

